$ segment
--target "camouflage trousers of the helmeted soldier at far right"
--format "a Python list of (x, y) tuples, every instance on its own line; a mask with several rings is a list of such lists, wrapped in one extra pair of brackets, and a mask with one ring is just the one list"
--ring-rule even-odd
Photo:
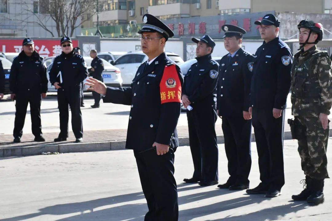
[(329, 127), (324, 130), (318, 117), (298, 116), (296, 120), (305, 128), (305, 136), (298, 139), (298, 152), (304, 174), (313, 179), (329, 178), (326, 157)]

